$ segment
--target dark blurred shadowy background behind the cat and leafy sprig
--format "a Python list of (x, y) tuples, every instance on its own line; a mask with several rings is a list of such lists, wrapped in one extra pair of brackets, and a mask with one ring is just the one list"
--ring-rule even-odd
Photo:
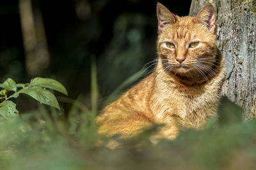
[[(159, 1), (188, 15), (191, 1)], [(37, 76), (54, 78), (69, 97), (90, 97), (91, 60), (97, 62), (100, 98), (156, 58), (157, 1), (33, 1), (45, 26), (50, 65)], [(0, 1), (0, 75), (26, 83), (29, 76), (20, 27), (19, 1)], [(150, 69), (153, 69), (152, 67)]]

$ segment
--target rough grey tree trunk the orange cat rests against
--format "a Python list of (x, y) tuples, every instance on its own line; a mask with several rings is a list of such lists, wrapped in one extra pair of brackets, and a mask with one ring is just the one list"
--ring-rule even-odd
[[(218, 47), (226, 60), (223, 94), (244, 110), (244, 118), (256, 117), (256, 1), (210, 1), (216, 10)], [(209, 1), (192, 0), (189, 15)]]

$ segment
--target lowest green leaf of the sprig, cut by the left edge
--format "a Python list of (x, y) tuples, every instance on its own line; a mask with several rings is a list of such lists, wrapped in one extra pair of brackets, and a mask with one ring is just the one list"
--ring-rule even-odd
[(0, 115), (9, 119), (13, 117), (19, 117), (19, 111), (16, 109), (16, 104), (12, 101), (5, 101), (0, 104)]

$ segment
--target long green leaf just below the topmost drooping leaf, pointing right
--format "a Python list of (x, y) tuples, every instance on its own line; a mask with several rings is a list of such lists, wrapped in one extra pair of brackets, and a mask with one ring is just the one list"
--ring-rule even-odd
[(40, 103), (53, 106), (54, 108), (60, 110), (60, 106), (54, 94), (52, 94), (49, 90), (43, 89), (42, 87), (28, 87), (26, 89), (19, 90), (17, 94), (27, 94)]

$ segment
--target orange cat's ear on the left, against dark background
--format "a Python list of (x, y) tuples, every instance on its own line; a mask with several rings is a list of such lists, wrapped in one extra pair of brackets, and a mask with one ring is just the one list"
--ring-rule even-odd
[(156, 13), (159, 33), (163, 32), (163, 29), (166, 27), (166, 25), (174, 24), (177, 21), (177, 17), (161, 3), (157, 3)]

